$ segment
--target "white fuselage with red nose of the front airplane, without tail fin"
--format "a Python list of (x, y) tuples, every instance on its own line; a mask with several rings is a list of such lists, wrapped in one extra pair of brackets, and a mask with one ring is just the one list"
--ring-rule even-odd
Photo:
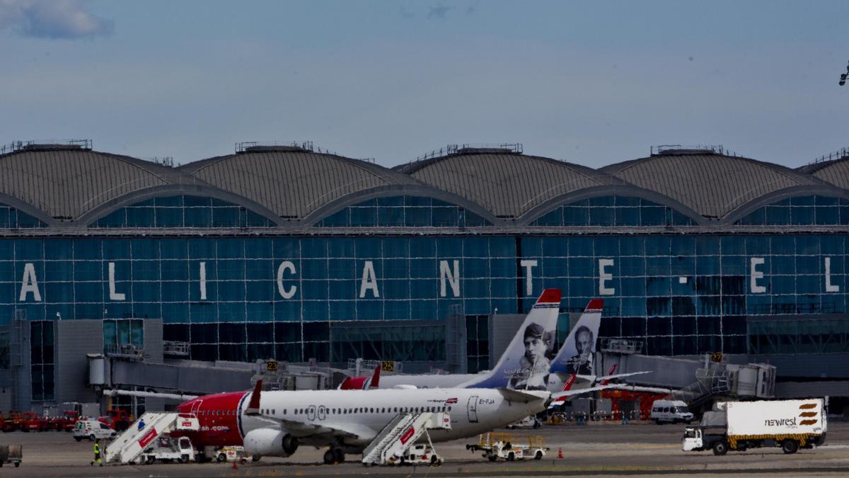
[[(399, 413), (448, 412), (451, 430), (430, 430), (430, 441), (469, 438), (543, 411), (548, 390), (376, 389), (273, 390), (204, 395), (178, 413), (194, 413), (198, 431), (188, 436), (199, 450), (244, 446), (256, 457), (289, 457), (301, 445), (328, 447), (325, 464), (363, 452)], [(569, 392), (565, 392), (569, 393)]]

